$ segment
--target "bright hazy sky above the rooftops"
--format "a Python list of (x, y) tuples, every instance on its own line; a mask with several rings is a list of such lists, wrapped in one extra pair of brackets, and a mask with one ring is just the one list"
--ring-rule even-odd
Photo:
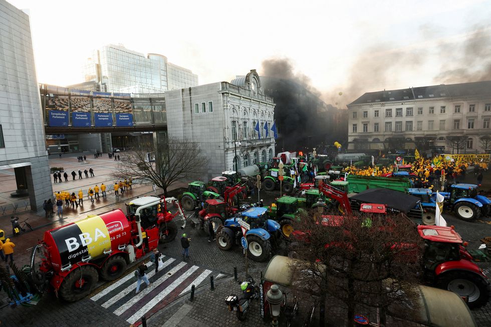
[(442, 71), (469, 66), (476, 29), (491, 36), (491, 2), (481, 0), (8, 1), (30, 11), (38, 82), (62, 86), (83, 82), (92, 49), (120, 43), (166, 56), (200, 84), (288, 58), (334, 104), (339, 91), (448, 82)]

